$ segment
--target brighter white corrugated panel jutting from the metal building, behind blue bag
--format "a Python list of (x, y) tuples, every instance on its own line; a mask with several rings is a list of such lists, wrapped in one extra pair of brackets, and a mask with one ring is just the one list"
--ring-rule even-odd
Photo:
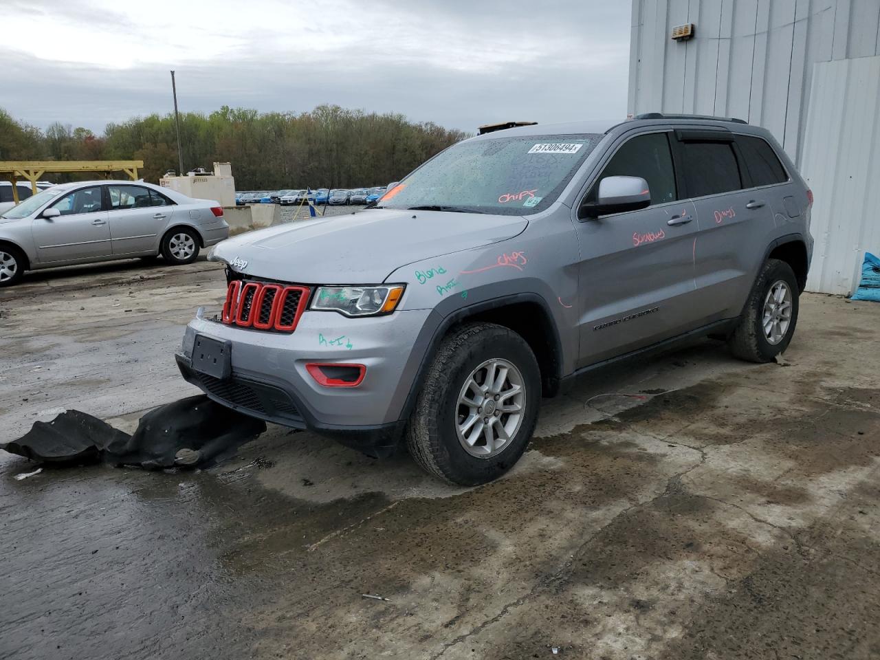
[(865, 252), (880, 253), (880, 57), (818, 63), (801, 172), (816, 203), (807, 289), (852, 293)]

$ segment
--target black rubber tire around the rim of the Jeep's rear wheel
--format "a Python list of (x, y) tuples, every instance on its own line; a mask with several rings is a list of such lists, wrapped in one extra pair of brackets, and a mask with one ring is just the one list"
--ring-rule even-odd
[[(782, 336), (781, 341), (770, 341), (764, 330), (764, 312), (766, 297), (778, 282), (784, 282), (788, 287), (791, 297), (791, 312), (788, 321), (788, 329)], [(774, 358), (782, 353), (791, 342), (795, 334), (798, 312), (797, 279), (795, 271), (785, 262), (777, 259), (768, 259), (761, 268), (758, 279), (752, 286), (752, 291), (745, 303), (743, 314), (739, 319), (739, 325), (728, 339), (730, 352), (748, 362), (766, 363), (773, 362)]]

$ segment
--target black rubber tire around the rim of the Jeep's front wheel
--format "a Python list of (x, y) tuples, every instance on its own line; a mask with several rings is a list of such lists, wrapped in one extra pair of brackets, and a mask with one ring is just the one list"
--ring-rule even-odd
[[(510, 440), (498, 453), (483, 458), (466, 451), (458, 440), (457, 424), (464, 416), (460, 413), (458, 395), (472, 372), (493, 359), (502, 359), (518, 370), (524, 406)], [(487, 483), (510, 470), (523, 455), (538, 422), (540, 398), (538, 361), (520, 335), (493, 323), (458, 326), (441, 342), (422, 392), (415, 400), (407, 424), (407, 447), (423, 470), (440, 479), (461, 486)], [(503, 424), (505, 417), (501, 415)]]

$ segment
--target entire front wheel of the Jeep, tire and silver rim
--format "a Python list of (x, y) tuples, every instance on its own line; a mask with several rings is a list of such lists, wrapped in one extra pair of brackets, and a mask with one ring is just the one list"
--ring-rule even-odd
[(509, 328), (472, 323), (444, 338), (407, 425), (429, 474), (462, 486), (495, 480), (523, 455), (538, 421), (538, 361)]

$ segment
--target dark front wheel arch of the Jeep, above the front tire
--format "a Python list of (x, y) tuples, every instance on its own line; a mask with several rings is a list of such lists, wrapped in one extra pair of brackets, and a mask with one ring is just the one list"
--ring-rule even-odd
[(523, 337), (538, 360), (542, 396), (554, 397), (559, 392), (562, 345), (550, 307), (544, 297), (536, 293), (511, 294), (460, 307), (440, 321), (422, 355), (422, 363), (409, 387), (400, 419), (407, 419), (411, 414), (430, 364), (446, 334), (455, 326), (476, 321), (508, 327)]

